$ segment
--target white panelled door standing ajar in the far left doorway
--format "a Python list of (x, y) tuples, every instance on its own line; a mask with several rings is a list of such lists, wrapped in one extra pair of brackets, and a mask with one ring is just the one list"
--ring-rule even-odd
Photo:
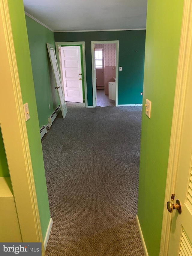
[(83, 102), (80, 46), (59, 47), (65, 101)]

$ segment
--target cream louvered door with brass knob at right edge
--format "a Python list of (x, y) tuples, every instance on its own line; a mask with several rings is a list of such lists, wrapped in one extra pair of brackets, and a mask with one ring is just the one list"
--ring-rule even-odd
[(188, 77), (181, 147), (176, 179), (175, 200), (182, 204), (182, 213), (174, 210), (171, 224), (169, 256), (192, 256), (192, 56)]

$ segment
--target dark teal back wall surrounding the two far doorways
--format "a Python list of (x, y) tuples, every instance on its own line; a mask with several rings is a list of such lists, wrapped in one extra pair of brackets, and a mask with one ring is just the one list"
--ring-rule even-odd
[(119, 99), (118, 104), (142, 103), (145, 55), (145, 30), (59, 32), (55, 42), (85, 41), (88, 105), (93, 105), (91, 41), (119, 40)]

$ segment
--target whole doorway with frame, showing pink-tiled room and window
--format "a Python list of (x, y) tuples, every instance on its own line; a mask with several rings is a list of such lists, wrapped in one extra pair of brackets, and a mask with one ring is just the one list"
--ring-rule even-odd
[(118, 105), (119, 41), (92, 41), (93, 107)]

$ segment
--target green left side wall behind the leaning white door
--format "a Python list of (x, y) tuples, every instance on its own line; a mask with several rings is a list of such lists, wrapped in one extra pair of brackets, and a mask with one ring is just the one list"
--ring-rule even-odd
[[(48, 123), (48, 117), (59, 104), (46, 43), (53, 44), (54, 33), (26, 16), (29, 49), (31, 55), (39, 127)], [(49, 73), (50, 71), (50, 73)], [(49, 75), (50, 74), (50, 75)], [(49, 104), (51, 109), (49, 109)]]

